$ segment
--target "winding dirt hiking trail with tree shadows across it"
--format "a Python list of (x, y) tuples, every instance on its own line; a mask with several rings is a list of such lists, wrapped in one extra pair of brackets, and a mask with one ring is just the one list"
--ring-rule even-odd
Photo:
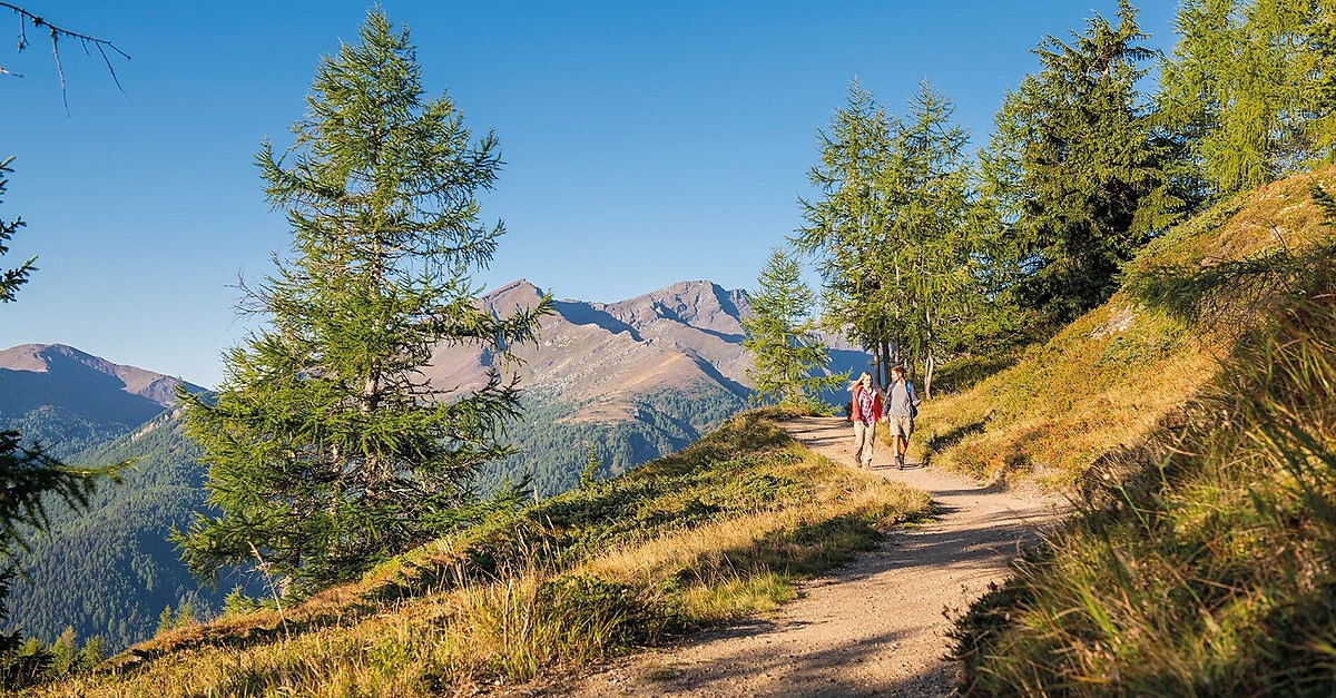
[[(854, 465), (848, 421), (780, 423), (808, 448)], [(884, 425), (879, 427), (879, 429)], [(1058, 499), (981, 488), (910, 463), (878, 443), (872, 469), (933, 496), (941, 517), (896, 530), (875, 551), (806, 582), (772, 618), (695, 635), (530, 695), (852, 697), (950, 695), (951, 620), (1007, 576), (1019, 543), (1051, 523)]]

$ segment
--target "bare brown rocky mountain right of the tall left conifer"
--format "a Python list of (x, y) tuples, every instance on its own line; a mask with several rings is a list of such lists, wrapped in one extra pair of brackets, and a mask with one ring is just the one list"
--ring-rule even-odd
[[(488, 293), (497, 316), (532, 308), (542, 290), (516, 281)], [(529, 475), (544, 495), (578, 483), (589, 447), (604, 475), (676, 451), (743, 409), (751, 394), (751, 358), (741, 320), (744, 290), (687, 281), (616, 304), (554, 301), (537, 346), (518, 346), (524, 419), (508, 428), (518, 452), (484, 473), (484, 485)], [(830, 340), (830, 369), (862, 370), (870, 357)], [(494, 357), (444, 346), (428, 376), (440, 388), (476, 388)], [(838, 392), (823, 396), (843, 400)]]

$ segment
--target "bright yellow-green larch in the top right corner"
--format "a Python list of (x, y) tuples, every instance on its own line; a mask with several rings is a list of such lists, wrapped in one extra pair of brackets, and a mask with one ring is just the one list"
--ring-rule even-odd
[(1336, 8), (1186, 0), (1157, 106), (1217, 195), (1336, 159)]

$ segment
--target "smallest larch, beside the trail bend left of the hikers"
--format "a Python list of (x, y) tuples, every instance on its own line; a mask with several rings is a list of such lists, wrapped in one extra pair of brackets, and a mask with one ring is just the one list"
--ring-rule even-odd
[(812, 318), (816, 296), (803, 282), (802, 265), (775, 247), (756, 286), (751, 297), (754, 314), (743, 320), (743, 348), (752, 354), (747, 372), (755, 382), (752, 402), (819, 406), (816, 396), (848, 377), (827, 370), (826, 344)]

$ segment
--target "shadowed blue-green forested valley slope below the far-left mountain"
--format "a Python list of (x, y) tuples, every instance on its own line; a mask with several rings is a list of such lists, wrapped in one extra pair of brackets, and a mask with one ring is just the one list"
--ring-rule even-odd
[(8, 599), (11, 623), (25, 636), (55, 641), (65, 627), (80, 639), (98, 635), (111, 651), (152, 636), (166, 607), (188, 606), (196, 618), (218, 612), (231, 586), (258, 591), (247, 576), (200, 586), (167, 542), (204, 508), (199, 449), (163, 415), (131, 435), (67, 460), (98, 465), (134, 460), (119, 484), (98, 489), (87, 512), (51, 509), (51, 527), (24, 558), (27, 579)]

